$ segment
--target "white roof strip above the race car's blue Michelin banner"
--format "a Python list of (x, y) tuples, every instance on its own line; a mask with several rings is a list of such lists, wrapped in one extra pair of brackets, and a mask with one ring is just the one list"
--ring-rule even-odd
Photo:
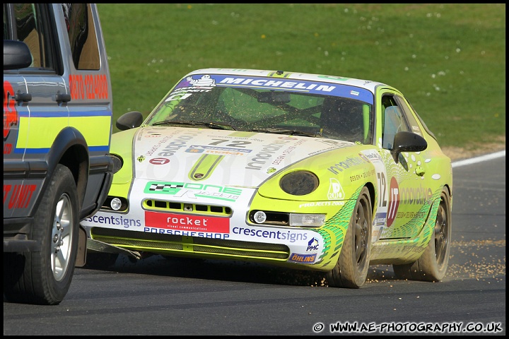
[(392, 88), (392, 86), (387, 85), (385, 83), (380, 83), (378, 81), (370, 81), (370, 80), (362, 80), (356, 78), (348, 78), (343, 76), (330, 76), (324, 74), (311, 74), (311, 73), (300, 73), (300, 72), (287, 72), (287, 71), (269, 71), (262, 69), (197, 69), (188, 73), (187, 76), (192, 76), (194, 74), (224, 74), (224, 75), (233, 75), (233, 76), (264, 76), (264, 77), (273, 77), (273, 78), (284, 78), (286, 80), (293, 79), (299, 81), (320, 81), (325, 83), (337, 83), (340, 85), (351, 85), (360, 88), (365, 88), (366, 90), (370, 90), (370, 92), (375, 93), (375, 90), (378, 86), (382, 85), (385, 88)]

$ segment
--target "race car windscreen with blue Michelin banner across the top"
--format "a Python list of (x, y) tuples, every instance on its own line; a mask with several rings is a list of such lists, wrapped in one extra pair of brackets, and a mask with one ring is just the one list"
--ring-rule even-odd
[(188, 121), (201, 128), (219, 124), (236, 131), (371, 143), (373, 95), (336, 83), (193, 75), (168, 93), (147, 124), (178, 126)]

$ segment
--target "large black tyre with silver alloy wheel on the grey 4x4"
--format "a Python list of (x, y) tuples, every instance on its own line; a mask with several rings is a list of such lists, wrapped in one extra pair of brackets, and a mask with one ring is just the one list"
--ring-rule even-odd
[(57, 165), (34, 216), (40, 252), (4, 253), (4, 299), (56, 305), (69, 290), (78, 253), (79, 205), (71, 171)]

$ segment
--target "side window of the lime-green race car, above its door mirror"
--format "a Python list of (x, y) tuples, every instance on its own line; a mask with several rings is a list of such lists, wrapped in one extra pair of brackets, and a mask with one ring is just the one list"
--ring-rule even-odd
[(392, 95), (382, 97), (383, 126), (382, 126), (382, 148), (391, 149), (394, 143), (394, 136), (400, 131), (410, 131), (404, 113), (397, 105)]

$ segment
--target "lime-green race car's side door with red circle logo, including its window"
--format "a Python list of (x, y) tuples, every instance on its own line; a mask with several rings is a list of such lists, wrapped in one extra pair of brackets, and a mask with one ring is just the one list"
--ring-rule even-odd
[[(429, 210), (431, 189), (426, 186), (423, 157), (420, 152), (404, 152), (394, 161), (390, 150), (394, 136), (400, 131), (415, 131), (407, 112), (409, 108), (397, 93), (386, 91), (380, 97), (382, 119), (382, 160), (385, 162), (385, 227), (381, 239), (416, 237)], [(419, 132), (419, 131), (418, 131)]]

